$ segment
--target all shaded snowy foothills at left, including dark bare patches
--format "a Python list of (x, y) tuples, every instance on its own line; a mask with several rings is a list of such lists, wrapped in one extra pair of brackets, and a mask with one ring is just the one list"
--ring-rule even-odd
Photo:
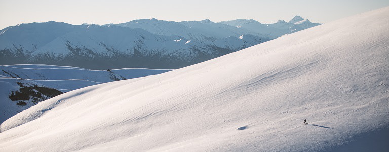
[(0, 123), (63, 92), (170, 70), (125, 68), (89, 70), (41, 64), (0, 66)]

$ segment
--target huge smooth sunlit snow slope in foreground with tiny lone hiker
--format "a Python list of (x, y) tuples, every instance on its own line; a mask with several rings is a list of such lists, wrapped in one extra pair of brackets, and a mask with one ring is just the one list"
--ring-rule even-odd
[(387, 14), (64, 93), (2, 123), (0, 151), (387, 150)]

